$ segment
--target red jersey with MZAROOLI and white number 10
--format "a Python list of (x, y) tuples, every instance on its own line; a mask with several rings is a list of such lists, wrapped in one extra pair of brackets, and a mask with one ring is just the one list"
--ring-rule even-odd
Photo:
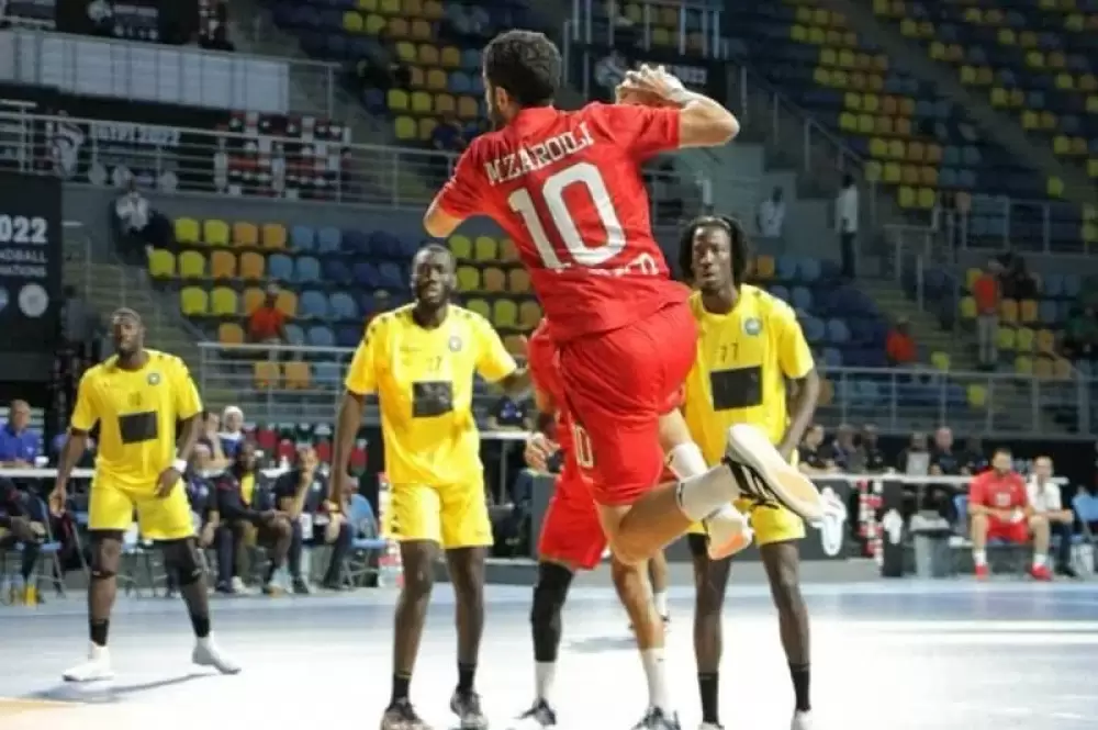
[(624, 327), (684, 302), (652, 236), (640, 165), (679, 148), (679, 110), (524, 109), (477, 137), (439, 195), (515, 242), (558, 341)]

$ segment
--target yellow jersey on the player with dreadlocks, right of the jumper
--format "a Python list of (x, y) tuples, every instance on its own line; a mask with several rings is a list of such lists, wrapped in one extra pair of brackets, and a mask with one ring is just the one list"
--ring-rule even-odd
[(724, 456), (725, 433), (733, 424), (757, 426), (776, 445), (789, 422), (785, 381), (815, 367), (793, 308), (748, 284), (728, 314), (707, 312), (699, 292), (690, 306), (698, 339), (683, 415), (706, 461)]

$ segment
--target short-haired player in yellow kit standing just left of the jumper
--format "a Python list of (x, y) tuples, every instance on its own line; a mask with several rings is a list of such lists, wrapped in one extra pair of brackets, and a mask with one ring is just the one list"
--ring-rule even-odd
[(388, 534), (400, 541), (404, 586), (396, 604), (393, 687), (381, 730), (429, 730), (408, 699), (438, 551), (456, 595), (458, 686), (450, 709), (461, 728), (488, 727), (473, 690), (484, 625), (484, 558), (492, 544), (472, 412), (473, 378), (511, 394), (529, 377), (479, 314), (450, 303), (453, 257), (437, 245), (412, 261), (415, 302), (369, 324), (347, 372), (332, 458), (330, 502), (343, 494), (366, 396), (377, 394), (392, 499)]

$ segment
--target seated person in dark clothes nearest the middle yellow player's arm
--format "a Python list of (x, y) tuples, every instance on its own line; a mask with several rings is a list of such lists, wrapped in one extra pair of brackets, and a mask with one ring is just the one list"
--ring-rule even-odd
[(325, 509), (328, 480), (318, 467), (316, 450), (310, 445), (301, 446), (293, 468), (280, 475), (274, 483), (278, 508), (293, 521), (289, 562), (294, 593), (311, 592), (309, 581), (301, 572), (301, 558), (306, 543), (333, 547), (323, 586), (332, 591), (341, 589), (341, 570), (355, 537), (343, 514), (329, 514)]

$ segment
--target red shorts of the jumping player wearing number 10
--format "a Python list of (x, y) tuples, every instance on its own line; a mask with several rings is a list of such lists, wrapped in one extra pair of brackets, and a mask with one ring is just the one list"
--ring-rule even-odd
[[(569, 412), (583, 431), (576, 430), (576, 461), (598, 504), (632, 504), (658, 483), (660, 416), (682, 404), (696, 351), (697, 325), (685, 302), (562, 346)], [(593, 458), (584, 458), (583, 436)]]

